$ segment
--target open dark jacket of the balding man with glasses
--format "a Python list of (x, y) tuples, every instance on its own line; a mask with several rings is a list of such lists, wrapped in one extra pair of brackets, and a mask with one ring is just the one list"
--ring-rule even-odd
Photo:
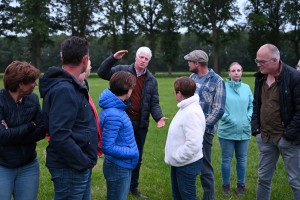
[[(252, 135), (260, 132), (261, 88), (266, 75), (255, 74), (255, 89), (252, 114)], [(280, 117), (285, 130), (283, 137), (294, 144), (300, 144), (300, 72), (282, 63), (278, 76)]]

